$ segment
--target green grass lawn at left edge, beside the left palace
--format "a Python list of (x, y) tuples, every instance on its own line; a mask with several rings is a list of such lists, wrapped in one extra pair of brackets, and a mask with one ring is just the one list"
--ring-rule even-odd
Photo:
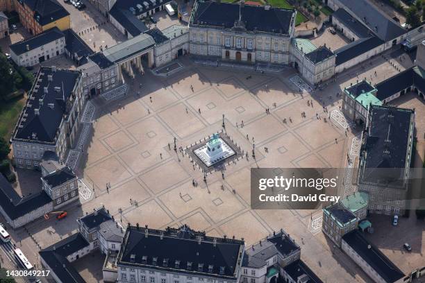
[(13, 128), (22, 108), (24, 108), (25, 98), (15, 98), (7, 103), (0, 103), (0, 137), (8, 141), (12, 135)]

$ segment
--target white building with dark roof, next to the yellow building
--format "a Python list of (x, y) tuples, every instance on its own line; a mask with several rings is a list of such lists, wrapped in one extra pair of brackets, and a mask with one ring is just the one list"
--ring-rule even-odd
[(64, 52), (65, 35), (57, 27), (10, 45), (10, 57), (24, 67), (38, 65)]

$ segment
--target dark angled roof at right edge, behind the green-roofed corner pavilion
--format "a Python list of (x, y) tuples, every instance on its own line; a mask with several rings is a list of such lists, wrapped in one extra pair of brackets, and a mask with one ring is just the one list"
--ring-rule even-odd
[(392, 96), (393, 94), (397, 94), (397, 92), (401, 92), (401, 90), (411, 87), (412, 85), (415, 85), (415, 87), (417, 87), (422, 93), (424, 93), (424, 75), (424, 69), (419, 66), (406, 69), (401, 73), (396, 74), (391, 78), (387, 78), (381, 83), (378, 83), (376, 85), (376, 89), (378, 89), (376, 97), (383, 101), (384, 99)]

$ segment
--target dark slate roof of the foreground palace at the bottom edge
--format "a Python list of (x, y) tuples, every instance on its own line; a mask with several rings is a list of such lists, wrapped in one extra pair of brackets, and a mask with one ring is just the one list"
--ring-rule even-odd
[[(148, 229), (147, 236), (146, 229), (127, 228), (117, 258), (118, 266), (147, 266), (161, 271), (232, 280), (237, 277), (236, 267), (242, 260), (243, 241), (206, 237), (205, 232), (195, 232), (186, 225), (165, 231)], [(189, 268), (188, 262), (192, 263)]]

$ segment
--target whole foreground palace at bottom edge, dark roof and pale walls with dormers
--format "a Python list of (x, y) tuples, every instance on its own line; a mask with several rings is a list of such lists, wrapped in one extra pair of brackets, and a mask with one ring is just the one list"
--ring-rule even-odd
[(128, 226), (117, 282), (236, 283), (243, 255), (243, 240), (208, 237), (186, 225), (167, 230)]

